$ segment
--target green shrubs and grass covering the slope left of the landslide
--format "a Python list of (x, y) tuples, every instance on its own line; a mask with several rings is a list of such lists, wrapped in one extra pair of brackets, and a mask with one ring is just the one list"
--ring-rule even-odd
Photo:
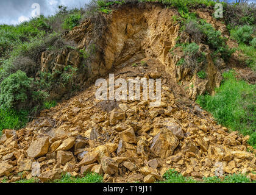
[[(16, 26), (0, 25), (0, 131), (19, 129), (28, 121), (27, 116), (53, 107), (49, 91), (63, 85), (77, 89), (73, 79), (76, 68), (66, 66), (46, 73), (38, 64), (43, 51), (75, 49), (61, 34), (79, 25), (84, 14), (83, 9), (68, 10), (61, 5), (54, 16), (40, 16)], [(87, 59), (90, 55), (88, 52)]]

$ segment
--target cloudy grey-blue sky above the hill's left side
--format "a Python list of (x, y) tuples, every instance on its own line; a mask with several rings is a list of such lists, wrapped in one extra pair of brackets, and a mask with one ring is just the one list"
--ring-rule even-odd
[[(83, 7), (89, 0), (0, 0), (0, 24), (18, 24), (37, 14), (52, 15), (59, 5), (69, 8)], [(32, 8), (32, 5), (34, 7)]]

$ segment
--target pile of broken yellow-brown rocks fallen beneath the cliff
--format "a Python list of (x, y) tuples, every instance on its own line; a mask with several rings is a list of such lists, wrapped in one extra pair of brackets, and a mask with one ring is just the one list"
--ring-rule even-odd
[(158, 107), (149, 101), (97, 101), (91, 86), (44, 110), (24, 129), (3, 131), (0, 181), (15, 182), (20, 172), (23, 178), (46, 182), (66, 172), (82, 176), (92, 171), (102, 174), (104, 182), (154, 182), (168, 169), (201, 179), (215, 176), (219, 163), (224, 174), (256, 170), (248, 136), (216, 124), (157, 61), (144, 61), (148, 66), (117, 69), (115, 75), (134, 79), (162, 73)]

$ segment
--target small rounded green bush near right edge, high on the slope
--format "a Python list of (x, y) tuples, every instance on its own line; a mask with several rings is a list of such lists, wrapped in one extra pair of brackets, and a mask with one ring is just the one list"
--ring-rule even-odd
[(235, 38), (238, 43), (249, 43), (252, 40), (252, 34), (254, 33), (254, 27), (244, 25), (238, 29), (231, 30), (230, 34), (232, 38)]

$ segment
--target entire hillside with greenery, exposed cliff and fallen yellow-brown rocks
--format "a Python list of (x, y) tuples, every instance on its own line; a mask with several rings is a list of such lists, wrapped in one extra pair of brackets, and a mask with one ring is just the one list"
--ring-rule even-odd
[[(97, 1), (1, 26), (0, 181), (254, 181), (256, 11), (214, 5)], [(160, 79), (160, 104), (96, 99), (110, 74)]]

